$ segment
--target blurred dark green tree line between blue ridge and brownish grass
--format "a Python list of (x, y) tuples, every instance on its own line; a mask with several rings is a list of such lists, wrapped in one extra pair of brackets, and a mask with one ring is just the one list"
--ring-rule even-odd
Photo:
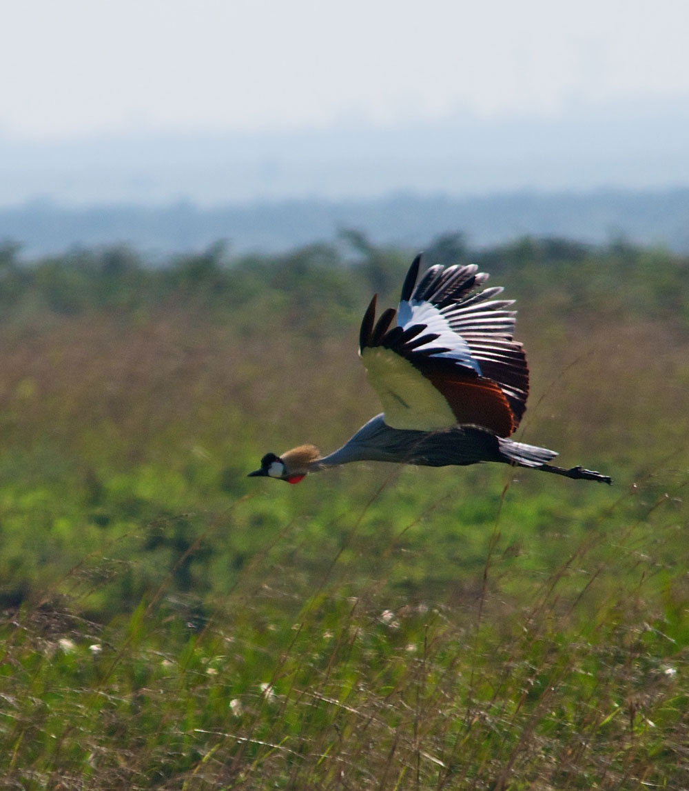
[[(280, 255), (233, 255), (216, 242), (202, 252), (153, 261), (126, 245), (73, 248), (27, 260), (20, 245), (0, 243), (0, 321), (41, 310), (73, 315), (98, 310), (134, 314), (186, 305), (217, 316), (269, 303), (318, 314), (358, 316), (371, 292), (394, 300), (416, 250), (374, 244), (345, 229), (332, 243), (308, 244)], [(559, 237), (521, 237), (509, 244), (470, 248), (463, 234), (435, 237), (427, 265), (476, 263), (510, 297), (561, 292), (563, 311), (631, 313), (689, 324), (689, 256), (642, 248), (623, 239), (585, 244)], [(324, 310), (324, 308), (327, 308)]]

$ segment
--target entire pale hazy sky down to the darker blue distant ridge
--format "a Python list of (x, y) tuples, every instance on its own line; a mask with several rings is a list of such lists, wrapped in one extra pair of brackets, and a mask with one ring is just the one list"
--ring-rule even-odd
[(0, 205), (689, 184), (689, 5), (26, 0)]

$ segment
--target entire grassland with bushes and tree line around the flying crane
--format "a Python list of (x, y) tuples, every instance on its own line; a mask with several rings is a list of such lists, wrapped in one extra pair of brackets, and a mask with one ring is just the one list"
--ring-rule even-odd
[(517, 438), (611, 489), (499, 465), (247, 479), (380, 411), (360, 318), (413, 251), (20, 253), (0, 248), (7, 787), (683, 787), (689, 259), (427, 249), (518, 300)]

